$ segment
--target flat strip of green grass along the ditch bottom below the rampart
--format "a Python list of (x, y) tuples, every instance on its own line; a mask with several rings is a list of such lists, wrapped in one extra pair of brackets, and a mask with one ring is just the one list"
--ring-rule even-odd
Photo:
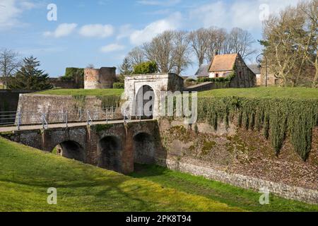
[(226, 203), (228, 206), (249, 211), (318, 211), (318, 205), (309, 205), (298, 201), (270, 195), (270, 204), (261, 206), (257, 192), (240, 189), (235, 186), (213, 182), (204, 177), (196, 177), (182, 172), (175, 172), (155, 165), (136, 165), (132, 177), (142, 178), (161, 186), (184, 191), (188, 194)]

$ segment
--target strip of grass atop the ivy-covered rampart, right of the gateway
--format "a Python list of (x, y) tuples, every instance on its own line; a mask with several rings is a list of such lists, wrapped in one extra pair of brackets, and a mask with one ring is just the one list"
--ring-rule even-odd
[(199, 93), (199, 97), (290, 97), (290, 98), (306, 98), (306, 99), (317, 99), (318, 89), (317, 88), (278, 88), (278, 87), (259, 87), (259, 88), (242, 88), (242, 89), (220, 89), (220, 90), (208, 90)]

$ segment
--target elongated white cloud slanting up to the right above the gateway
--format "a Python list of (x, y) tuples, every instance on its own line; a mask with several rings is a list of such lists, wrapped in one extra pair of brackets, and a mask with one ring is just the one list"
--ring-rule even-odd
[(153, 37), (166, 30), (176, 30), (180, 28), (181, 20), (181, 13), (174, 13), (168, 18), (150, 23), (142, 30), (135, 30), (130, 35), (130, 41), (132, 44), (142, 44), (143, 42), (149, 42), (153, 39)]

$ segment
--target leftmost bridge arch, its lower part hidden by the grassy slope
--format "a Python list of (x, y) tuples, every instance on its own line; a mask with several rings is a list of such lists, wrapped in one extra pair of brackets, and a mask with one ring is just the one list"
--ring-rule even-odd
[(59, 143), (59, 145), (53, 149), (52, 153), (81, 162), (85, 162), (86, 160), (84, 148), (75, 141), (63, 141)]

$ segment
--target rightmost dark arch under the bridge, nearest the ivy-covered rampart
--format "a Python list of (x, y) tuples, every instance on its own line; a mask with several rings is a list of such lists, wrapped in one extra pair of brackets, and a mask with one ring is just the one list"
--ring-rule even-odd
[(155, 163), (155, 142), (148, 133), (134, 136), (134, 162), (139, 164)]

